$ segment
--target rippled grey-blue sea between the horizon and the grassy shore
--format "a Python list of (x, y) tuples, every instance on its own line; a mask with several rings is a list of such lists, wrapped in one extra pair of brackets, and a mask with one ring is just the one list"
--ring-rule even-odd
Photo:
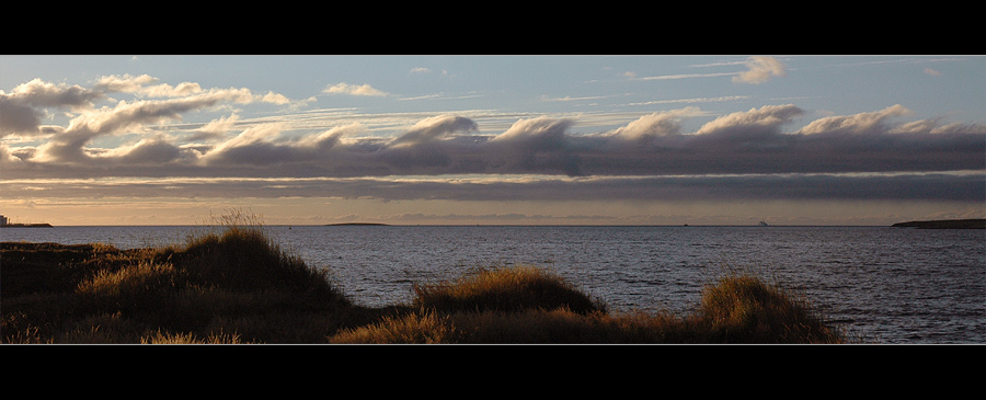
[[(2, 241), (182, 243), (205, 227), (2, 229)], [(413, 283), (527, 264), (615, 310), (686, 313), (704, 284), (752, 270), (879, 343), (986, 343), (986, 231), (890, 227), (264, 228), (367, 306), (410, 301)]]

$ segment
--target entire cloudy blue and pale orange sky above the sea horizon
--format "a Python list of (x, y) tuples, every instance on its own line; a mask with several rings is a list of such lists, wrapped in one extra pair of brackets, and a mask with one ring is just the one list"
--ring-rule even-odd
[(2, 55), (15, 222), (986, 217), (979, 55)]

